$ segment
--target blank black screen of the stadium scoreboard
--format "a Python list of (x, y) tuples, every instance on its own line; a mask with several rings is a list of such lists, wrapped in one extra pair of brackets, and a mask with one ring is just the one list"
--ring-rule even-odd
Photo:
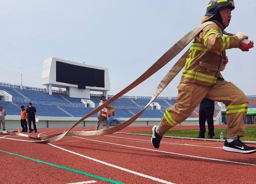
[(56, 82), (85, 86), (104, 87), (104, 70), (56, 61)]

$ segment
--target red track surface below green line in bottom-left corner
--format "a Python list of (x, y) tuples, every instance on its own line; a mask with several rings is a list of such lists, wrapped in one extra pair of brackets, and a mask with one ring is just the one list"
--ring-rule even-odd
[[(74, 172), (53, 168), (45, 164), (35, 163), (0, 152), (1, 175), (0, 183), (68, 183), (75, 181), (92, 180), (92, 177)], [(94, 178), (95, 179), (95, 178)], [(95, 179), (97, 183), (105, 183)]]

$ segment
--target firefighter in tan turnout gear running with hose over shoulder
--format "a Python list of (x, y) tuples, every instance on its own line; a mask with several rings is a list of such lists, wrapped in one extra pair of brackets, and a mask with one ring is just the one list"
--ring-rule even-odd
[(227, 140), (223, 150), (239, 153), (256, 151), (256, 148), (239, 140), (246, 134), (244, 118), (248, 108), (247, 98), (242, 90), (225, 81), (220, 73), (227, 63), (226, 49), (249, 51), (253, 47), (252, 41), (244, 42), (244, 39), (248, 39), (244, 33), (232, 35), (224, 32), (234, 8), (232, 0), (211, 0), (208, 3), (201, 23), (212, 21), (212, 24), (206, 26), (191, 43), (178, 86), (176, 104), (165, 110), (158, 126), (153, 126), (151, 142), (155, 148), (159, 148), (163, 134), (186, 120), (206, 97), (223, 102), (227, 107)]

